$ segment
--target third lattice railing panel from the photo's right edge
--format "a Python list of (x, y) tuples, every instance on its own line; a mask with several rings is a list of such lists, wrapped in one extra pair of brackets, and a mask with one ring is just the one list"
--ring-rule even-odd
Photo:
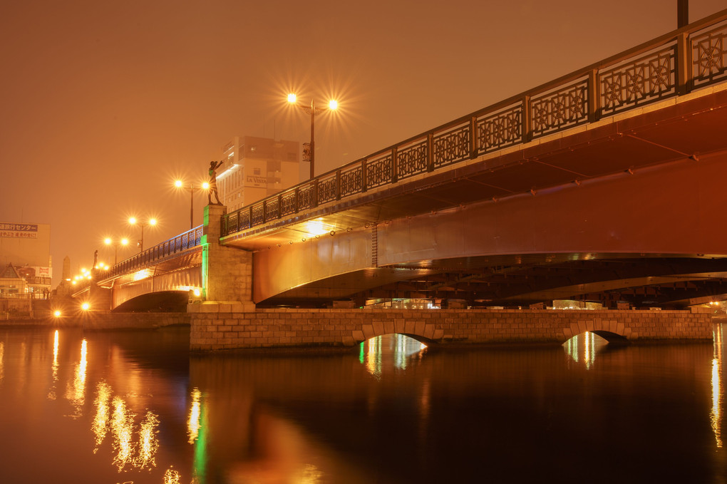
[(558, 91), (530, 100), (531, 133), (544, 134), (571, 128), (588, 121), (588, 80), (583, 79)]

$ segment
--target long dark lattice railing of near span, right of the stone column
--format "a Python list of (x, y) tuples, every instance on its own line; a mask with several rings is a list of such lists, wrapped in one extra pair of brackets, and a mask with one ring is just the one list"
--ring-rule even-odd
[(727, 10), (222, 217), (222, 236), (727, 78)]

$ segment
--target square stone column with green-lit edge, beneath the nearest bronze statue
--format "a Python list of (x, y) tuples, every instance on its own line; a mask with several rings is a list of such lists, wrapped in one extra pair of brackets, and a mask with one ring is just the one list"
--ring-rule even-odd
[(202, 312), (217, 312), (215, 306), (220, 305), (224, 305), (227, 311), (230, 306), (233, 311), (255, 309), (252, 302), (252, 252), (220, 245), (220, 222), (225, 213), (227, 207), (222, 205), (204, 207), (201, 246), (202, 286), (206, 302)]

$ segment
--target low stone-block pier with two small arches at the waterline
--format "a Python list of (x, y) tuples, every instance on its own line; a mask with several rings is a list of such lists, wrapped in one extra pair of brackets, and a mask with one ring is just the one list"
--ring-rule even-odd
[(192, 350), (346, 347), (400, 333), (426, 344), (562, 344), (593, 331), (629, 341), (711, 340), (709, 310), (310, 310), (190, 304)]

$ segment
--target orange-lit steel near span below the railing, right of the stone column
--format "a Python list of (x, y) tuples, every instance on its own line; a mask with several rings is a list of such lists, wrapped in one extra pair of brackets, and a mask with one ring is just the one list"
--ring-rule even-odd
[(726, 106), (667, 102), (223, 243), (254, 251), (259, 306), (723, 299)]

